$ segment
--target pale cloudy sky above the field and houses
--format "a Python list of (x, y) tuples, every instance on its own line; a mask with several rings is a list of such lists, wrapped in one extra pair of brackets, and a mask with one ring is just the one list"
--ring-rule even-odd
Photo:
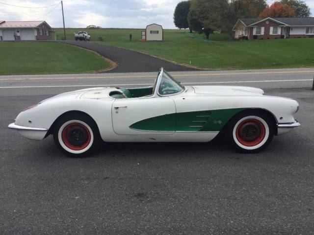
[[(104, 28), (145, 28), (161, 24), (175, 28), (173, 12), (181, 0), (63, 0), (66, 27), (94, 24)], [(268, 0), (272, 3), (275, 0)], [(314, 0), (305, 0), (314, 16)], [(6, 4), (16, 5), (10, 6)], [(33, 8), (23, 8), (33, 7)], [(45, 8), (39, 8), (49, 6)], [(0, 21), (43, 20), (52, 27), (62, 27), (59, 0), (0, 0)]]

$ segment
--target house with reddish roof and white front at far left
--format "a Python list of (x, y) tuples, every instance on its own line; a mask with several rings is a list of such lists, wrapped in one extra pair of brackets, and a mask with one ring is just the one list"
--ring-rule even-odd
[(52, 40), (53, 32), (45, 21), (0, 21), (0, 41)]

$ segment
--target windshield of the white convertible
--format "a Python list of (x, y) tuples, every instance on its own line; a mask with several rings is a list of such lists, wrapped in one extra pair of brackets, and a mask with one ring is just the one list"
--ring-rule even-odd
[(163, 71), (160, 86), (158, 89), (158, 94), (167, 95), (167, 94), (176, 94), (182, 92), (184, 86), (176, 81), (169, 73)]

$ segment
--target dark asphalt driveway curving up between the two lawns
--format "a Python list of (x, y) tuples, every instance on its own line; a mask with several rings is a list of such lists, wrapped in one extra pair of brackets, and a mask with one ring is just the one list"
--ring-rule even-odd
[(61, 43), (71, 44), (77, 47), (83, 47), (96, 51), (105, 58), (117, 63), (117, 67), (104, 72), (152, 72), (157, 71), (160, 67), (167, 67), (168, 71), (197, 71), (193, 69), (171, 63), (151, 55), (146, 55), (133, 50), (119, 47), (110, 47), (97, 43), (84, 41), (59, 41)]

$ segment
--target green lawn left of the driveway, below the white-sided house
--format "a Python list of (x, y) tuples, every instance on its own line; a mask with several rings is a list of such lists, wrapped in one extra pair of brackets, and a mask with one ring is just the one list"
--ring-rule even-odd
[(0, 42), (0, 51), (0, 75), (82, 73), (110, 67), (96, 53), (61, 43)]

